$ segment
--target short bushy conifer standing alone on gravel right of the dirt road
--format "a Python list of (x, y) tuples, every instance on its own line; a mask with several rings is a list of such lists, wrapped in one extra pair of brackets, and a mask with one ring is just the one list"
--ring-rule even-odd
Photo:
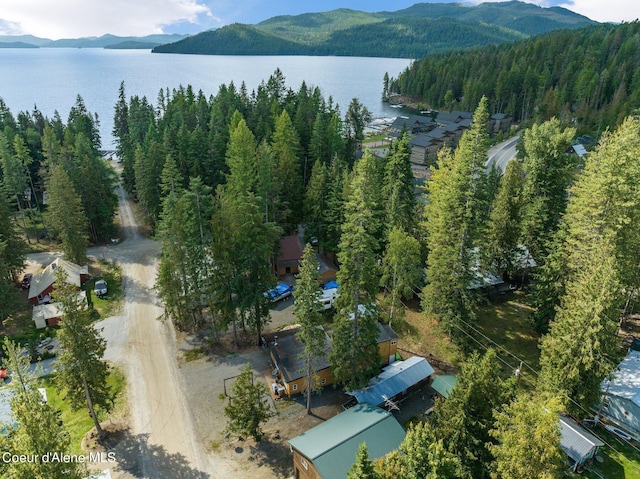
[(254, 383), (251, 365), (247, 364), (234, 381), (224, 407), (226, 431), (239, 439), (251, 436), (260, 441), (263, 436), (260, 426), (272, 416), (267, 395), (267, 387), (262, 381)]

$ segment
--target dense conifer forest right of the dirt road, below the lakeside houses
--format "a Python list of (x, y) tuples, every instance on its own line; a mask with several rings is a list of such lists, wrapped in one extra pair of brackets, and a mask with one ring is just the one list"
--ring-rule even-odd
[[(122, 85), (114, 133), (123, 180), (163, 244), (157, 288), (167, 317), (212, 344), (225, 331), (239, 342), (244, 330), (257, 342), (269, 321), (262, 293), (275, 281), (269, 262), (278, 238), (304, 225), (306, 238), (317, 237), (340, 265), (342, 294), (329, 319), (338, 384), (361, 387), (378, 370), (375, 324), (399, 315), (416, 290), (425, 319), (436, 318), (466, 354), (458, 385), (432, 418), (375, 465), (359, 456), (354, 470), (562, 477), (558, 414), (591, 415), (622, 354), (619, 320), (636, 304), (640, 122), (628, 117), (582, 160), (566, 153), (575, 127), (558, 118), (532, 124), (521, 132), (519, 160), (500, 175), (485, 167), (483, 97), (418, 201), (406, 135), (385, 158), (365, 151), (356, 160), (367, 116), (357, 100), (342, 116), (317, 89), (286, 87), (279, 71), (255, 92), (229, 84), (206, 98), (186, 87), (161, 92), (155, 106), (127, 100)], [(537, 270), (523, 271), (523, 251)], [(486, 301), (469, 287), (479, 269), (514, 283), (533, 277), (526, 294), (541, 367), (526, 388), (505, 379), (500, 357), (470, 334)], [(305, 276), (297, 302), (314, 304), (313, 282)], [(326, 318), (301, 321), (311, 331)], [(514, 428), (527, 433), (514, 437)]]

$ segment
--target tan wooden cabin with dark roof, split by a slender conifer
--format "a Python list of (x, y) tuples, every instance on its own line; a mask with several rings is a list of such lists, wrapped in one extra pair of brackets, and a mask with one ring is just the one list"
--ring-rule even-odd
[[(318, 326), (324, 332), (322, 326)], [(325, 349), (321, 357), (314, 359), (315, 381), (320, 387), (333, 384), (334, 378), (331, 373), (329, 363), (329, 353), (333, 348), (329, 336), (325, 332)], [(275, 388), (272, 391), (276, 396), (292, 397), (307, 389), (307, 378), (305, 375), (305, 362), (302, 357), (304, 345), (297, 334), (286, 336), (276, 336), (269, 344), (269, 354), (275, 366)]]

